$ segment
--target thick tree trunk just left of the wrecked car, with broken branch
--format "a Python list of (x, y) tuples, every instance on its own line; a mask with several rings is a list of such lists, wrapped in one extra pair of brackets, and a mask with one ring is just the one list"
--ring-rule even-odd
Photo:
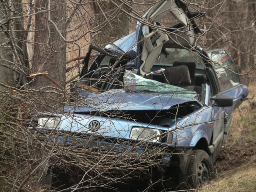
[[(63, 90), (65, 87), (65, 66), (66, 66), (66, 43), (58, 34), (55, 26), (48, 22), (52, 20), (62, 36), (66, 36), (66, 4), (65, 0), (50, 1), (50, 11), (45, 0), (36, 0), (35, 18), (35, 44), (34, 57), (32, 62), (32, 73), (35, 75), (31, 86), (43, 88), (35, 98), (42, 102), (40, 110), (49, 110), (63, 101)], [(43, 12), (44, 11), (44, 12)], [(40, 73), (48, 75), (39, 75)], [(54, 88), (52, 88), (54, 87)]]

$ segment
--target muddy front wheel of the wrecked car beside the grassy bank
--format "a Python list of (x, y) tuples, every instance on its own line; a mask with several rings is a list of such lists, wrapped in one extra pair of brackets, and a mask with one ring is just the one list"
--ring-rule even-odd
[(186, 188), (199, 188), (214, 178), (210, 156), (204, 150), (193, 150), (184, 175)]

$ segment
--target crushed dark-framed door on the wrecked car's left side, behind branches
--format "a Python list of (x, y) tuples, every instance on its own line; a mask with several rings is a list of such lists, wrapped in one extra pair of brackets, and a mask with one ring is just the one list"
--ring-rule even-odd
[[(121, 41), (120, 43), (125, 45), (125, 42)], [(84, 66), (80, 72), (80, 78), (78, 81), (72, 82), (70, 92), (84, 96), (88, 94), (88, 91), (98, 92), (122, 86), (122, 73), (125, 68), (134, 67), (128, 66), (128, 63), (134, 60), (134, 56), (129, 52), (123, 53), (115, 44), (108, 47), (109, 49), (101, 49), (90, 45), (83, 61)], [(90, 66), (89, 69), (88, 66)]]

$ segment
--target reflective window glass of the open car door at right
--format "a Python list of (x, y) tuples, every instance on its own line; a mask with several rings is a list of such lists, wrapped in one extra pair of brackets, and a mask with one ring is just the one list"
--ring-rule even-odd
[(238, 70), (225, 50), (210, 51), (208, 55), (214, 62), (214, 70), (217, 73), (221, 91), (231, 89), (240, 84)]

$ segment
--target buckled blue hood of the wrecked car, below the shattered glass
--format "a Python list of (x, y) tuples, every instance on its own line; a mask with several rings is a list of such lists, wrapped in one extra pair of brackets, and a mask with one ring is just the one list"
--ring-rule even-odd
[(180, 103), (196, 100), (192, 94), (125, 92), (113, 89), (89, 94), (80, 104), (65, 106), (64, 111), (77, 113), (110, 110), (166, 110)]

